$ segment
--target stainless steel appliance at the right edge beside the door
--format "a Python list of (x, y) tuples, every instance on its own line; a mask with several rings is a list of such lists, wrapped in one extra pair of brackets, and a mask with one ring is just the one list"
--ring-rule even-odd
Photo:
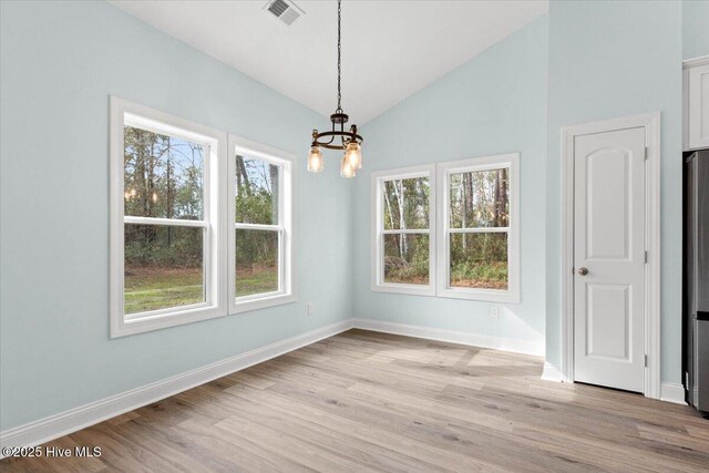
[(709, 417), (709, 150), (685, 161), (684, 220), (685, 390)]

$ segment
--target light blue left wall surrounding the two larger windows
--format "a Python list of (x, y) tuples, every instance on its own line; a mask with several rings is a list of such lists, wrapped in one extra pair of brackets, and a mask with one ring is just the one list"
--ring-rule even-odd
[[(305, 172), (326, 119), (104, 2), (0, 12), (0, 430), (351, 317), (351, 183)], [(110, 94), (298, 155), (297, 304), (109, 339)]]

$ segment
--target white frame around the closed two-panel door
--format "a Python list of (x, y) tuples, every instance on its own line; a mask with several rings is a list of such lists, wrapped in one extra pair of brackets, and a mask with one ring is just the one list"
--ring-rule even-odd
[(660, 113), (562, 127), (562, 381), (574, 382), (574, 138), (645, 128), (645, 367), (644, 394), (660, 398)]

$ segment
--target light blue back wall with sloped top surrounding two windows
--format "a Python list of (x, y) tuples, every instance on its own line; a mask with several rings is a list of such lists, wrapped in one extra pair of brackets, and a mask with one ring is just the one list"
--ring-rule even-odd
[[(547, 18), (542, 17), (363, 128), (357, 176), (354, 282), (358, 317), (527, 343), (544, 342)], [(370, 173), (521, 152), (522, 302), (489, 302), (370, 290)]]

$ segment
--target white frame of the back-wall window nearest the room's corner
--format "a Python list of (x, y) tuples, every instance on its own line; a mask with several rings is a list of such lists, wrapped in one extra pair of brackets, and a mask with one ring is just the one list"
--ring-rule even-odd
[[(384, 203), (383, 184), (389, 181), (411, 179), (417, 177), (429, 178), (429, 229), (386, 230), (383, 223)], [(411, 166), (398, 169), (381, 171), (371, 175), (371, 235), (372, 235), (372, 261), (371, 261), (371, 290), (378, 292), (398, 292), (417, 296), (435, 296), (435, 240), (436, 240), (436, 179), (435, 165)], [(410, 285), (384, 282), (384, 235), (410, 234), (429, 235), (429, 284)]]

